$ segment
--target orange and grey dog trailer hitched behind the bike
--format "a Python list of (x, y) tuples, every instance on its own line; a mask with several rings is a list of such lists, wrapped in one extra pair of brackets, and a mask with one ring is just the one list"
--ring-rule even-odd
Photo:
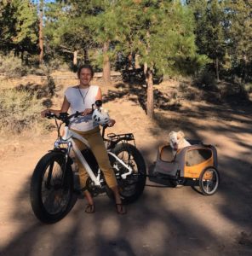
[(189, 140), (191, 146), (181, 148), (175, 155), (170, 145), (158, 148), (154, 174), (171, 183), (199, 186), (203, 195), (215, 194), (220, 174), (217, 170), (217, 150), (213, 145)]

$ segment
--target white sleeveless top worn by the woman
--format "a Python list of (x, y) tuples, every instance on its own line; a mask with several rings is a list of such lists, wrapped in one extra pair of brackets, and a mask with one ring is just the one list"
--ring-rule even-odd
[[(70, 114), (83, 112), (86, 108), (92, 108), (95, 102), (99, 86), (90, 85), (89, 88), (78, 89), (78, 87), (69, 87), (65, 91), (67, 102), (70, 103)], [(84, 100), (83, 100), (84, 99)], [(77, 131), (89, 131), (96, 126), (92, 120), (92, 114), (79, 116), (72, 119), (69, 128)]]

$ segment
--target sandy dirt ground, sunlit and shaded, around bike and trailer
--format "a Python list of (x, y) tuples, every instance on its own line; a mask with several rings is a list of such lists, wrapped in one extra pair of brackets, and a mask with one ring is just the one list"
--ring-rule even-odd
[[(105, 89), (106, 93), (107, 90)], [(112, 91), (114, 91), (112, 93)], [(179, 111), (155, 110), (151, 121), (134, 93), (110, 88), (105, 107), (117, 124), (110, 132), (133, 132), (146, 166), (156, 160), (169, 131), (182, 130), (218, 150), (221, 185), (213, 196), (190, 187), (169, 188), (147, 180), (140, 200), (117, 215), (106, 195), (96, 212), (79, 199), (57, 224), (41, 224), (31, 211), (31, 173), (55, 134), (5, 138), (1, 156), (1, 255), (251, 255), (251, 107), (191, 102)], [(2, 139), (3, 140), (3, 139)]]

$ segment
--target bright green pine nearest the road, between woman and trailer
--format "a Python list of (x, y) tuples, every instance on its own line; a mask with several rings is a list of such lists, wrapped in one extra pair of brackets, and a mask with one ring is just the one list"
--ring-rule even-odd
[(153, 73), (175, 73), (180, 61), (196, 56), (193, 16), (180, 1), (125, 0), (117, 7), (120, 11), (117, 39), (124, 52), (128, 47), (128, 54), (140, 56), (147, 84), (147, 115), (152, 119)]

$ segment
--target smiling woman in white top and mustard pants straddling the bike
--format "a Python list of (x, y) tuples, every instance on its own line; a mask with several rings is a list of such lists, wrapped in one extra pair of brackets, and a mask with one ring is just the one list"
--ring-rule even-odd
[[(110, 165), (108, 154), (106, 152), (105, 144), (100, 136), (99, 125), (94, 124), (92, 120), (92, 104), (95, 101), (101, 100), (101, 90), (99, 86), (90, 85), (91, 79), (93, 79), (94, 71), (89, 65), (83, 65), (79, 67), (77, 71), (77, 77), (79, 84), (73, 87), (69, 87), (65, 91), (65, 97), (60, 110), (46, 109), (41, 113), (45, 116), (45, 113), (52, 112), (55, 114), (66, 113), (70, 108), (72, 113), (76, 111), (81, 112), (82, 115), (72, 122), (70, 129), (83, 136), (88, 142), (89, 146), (98, 162), (100, 170), (103, 172), (106, 179), (106, 183), (110, 189), (112, 189), (116, 201), (117, 213), (126, 213), (125, 207), (123, 207), (119, 190), (117, 187), (117, 179)], [(108, 123), (109, 126), (115, 124), (115, 120), (111, 119)], [(75, 140), (77, 147), (82, 150), (84, 148), (83, 143)], [(77, 160), (79, 166), (79, 179), (83, 193), (88, 201), (88, 205), (85, 212), (95, 212), (94, 201), (86, 188), (86, 182), (89, 177), (88, 173), (84, 169), (83, 165)]]

